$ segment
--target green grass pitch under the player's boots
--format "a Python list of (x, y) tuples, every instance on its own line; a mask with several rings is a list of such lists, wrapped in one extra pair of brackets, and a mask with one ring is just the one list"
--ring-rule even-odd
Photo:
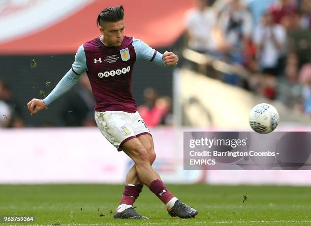
[[(311, 225), (311, 187), (168, 185), (199, 211), (172, 218), (144, 187), (134, 204), (149, 220), (113, 219), (123, 186), (0, 185), (0, 215), (33, 215), (33, 223), (3, 225)], [(243, 196), (247, 199), (243, 203)]]

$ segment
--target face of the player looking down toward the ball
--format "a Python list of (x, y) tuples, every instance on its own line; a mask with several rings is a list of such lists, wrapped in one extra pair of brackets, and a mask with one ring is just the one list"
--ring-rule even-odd
[(101, 33), (104, 35), (104, 42), (108, 46), (120, 46), (123, 41), (125, 22), (104, 22), (100, 27)]

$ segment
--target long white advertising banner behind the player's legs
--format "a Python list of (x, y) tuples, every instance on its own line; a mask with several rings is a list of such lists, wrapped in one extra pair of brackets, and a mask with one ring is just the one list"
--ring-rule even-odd
[[(183, 131), (204, 130), (151, 130), (166, 183), (311, 184), (311, 171), (185, 171)], [(97, 127), (0, 129), (0, 183), (124, 183), (132, 164)]]

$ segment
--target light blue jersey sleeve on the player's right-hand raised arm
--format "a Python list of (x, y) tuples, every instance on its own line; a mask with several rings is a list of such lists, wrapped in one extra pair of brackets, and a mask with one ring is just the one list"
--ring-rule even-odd
[(158, 64), (161, 67), (174, 67), (174, 65), (173, 66), (166, 65), (162, 60), (163, 54), (155, 49), (152, 49), (150, 46), (148, 46), (140, 39), (133, 38), (133, 46), (136, 52), (136, 59), (149, 60), (150, 62), (154, 62), (155, 64)]

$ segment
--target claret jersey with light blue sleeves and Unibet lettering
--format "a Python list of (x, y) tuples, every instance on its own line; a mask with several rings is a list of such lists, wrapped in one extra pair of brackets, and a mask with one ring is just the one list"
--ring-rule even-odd
[(44, 99), (46, 105), (68, 91), (86, 72), (96, 101), (95, 111), (134, 113), (136, 102), (131, 92), (132, 72), (136, 60), (149, 60), (167, 66), (162, 54), (139, 39), (125, 36), (121, 46), (108, 47), (100, 39), (81, 45), (71, 70)]

